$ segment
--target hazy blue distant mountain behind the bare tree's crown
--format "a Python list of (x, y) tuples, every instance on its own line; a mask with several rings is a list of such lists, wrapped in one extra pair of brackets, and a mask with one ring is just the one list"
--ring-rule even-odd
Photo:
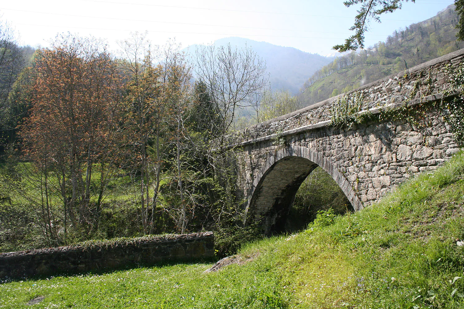
[[(266, 42), (258, 42), (247, 38), (221, 38), (214, 42), (216, 45), (251, 47), (259, 57), (266, 61), (266, 68), (270, 74), (269, 81), (274, 90), (288, 89), (296, 95), (311, 77), (322, 66), (330, 63), (333, 57), (323, 57), (310, 54), (293, 47), (283, 47)], [(189, 52), (195, 51), (195, 45), (187, 47)]]

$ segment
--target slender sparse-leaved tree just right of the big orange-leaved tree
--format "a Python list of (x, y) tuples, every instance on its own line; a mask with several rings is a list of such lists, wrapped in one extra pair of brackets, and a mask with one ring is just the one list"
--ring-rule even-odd
[(119, 45), (122, 48), (122, 67), (129, 80), (125, 98), (125, 128), (130, 151), (134, 154), (129, 168), (140, 177), (140, 187), (135, 195), (140, 199), (143, 233), (148, 233), (151, 187), (154, 179), (160, 177), (161, 155), (164, 153), (155, 151), (155, 156), (150, 155), (151, 145), (159, 149), (164, 128), (166, 108), (159, 86), (161, 70), (153, 63), (153, 50), (146, 33), (136, 32), (131, 38), (119, 42)]

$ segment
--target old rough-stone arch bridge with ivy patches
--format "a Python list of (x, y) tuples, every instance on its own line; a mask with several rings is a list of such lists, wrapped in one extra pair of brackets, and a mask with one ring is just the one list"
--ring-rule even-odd
[[(446, 91), (446, 68), (458, 66), (463, 57), (464, 49), (455, 51), (231, 137), (245, 224), (261, 220), (264, 233), (283, 230), (296, 191), (317, 166), (359, 210), (450, 159), (459, 146), (445, 121), (449, 112), (432, 103), (452, 95)], [(361, 124), (334, 126), (330, 110), (344, 95), (362, 95), (359, 113), (375, 115), (405, 105), (423, 113), (417, 122), (371, 117)]]

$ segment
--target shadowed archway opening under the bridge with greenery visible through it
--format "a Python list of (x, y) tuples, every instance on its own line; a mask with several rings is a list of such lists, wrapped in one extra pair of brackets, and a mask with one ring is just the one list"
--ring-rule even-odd
[[(263, 232), (274, 234), (305, 228), (314, 220), (317, 210), (330, 208), (333, 202), (343, 203), (335, 207), (336, 213), (354, 211), (347, 192), (351, 193), (352, 201), (354, 193), (339, 173), (325, 165), (325, 168), (319, 167), (314, 161), (293, 153), (276, 159), (252, 192), (247, 221), (261, 220)], [(326, 192), (317, 192), (317, 189)]]

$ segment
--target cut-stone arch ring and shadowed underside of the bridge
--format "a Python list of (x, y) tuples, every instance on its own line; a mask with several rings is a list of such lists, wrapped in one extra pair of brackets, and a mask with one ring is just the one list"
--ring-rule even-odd
[(320, 166), (347, 196), (354, 210), (363, 208), (351, 183), (321, 153), (306, 147), (289, 145), (272, 151), (258, 170), (249, 189), (245, 224), (262, 220), (264, 233), (283, 231), (285, 218), (304, 179)]

